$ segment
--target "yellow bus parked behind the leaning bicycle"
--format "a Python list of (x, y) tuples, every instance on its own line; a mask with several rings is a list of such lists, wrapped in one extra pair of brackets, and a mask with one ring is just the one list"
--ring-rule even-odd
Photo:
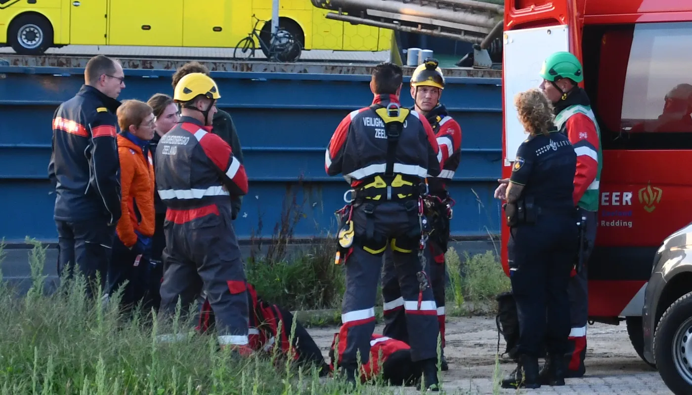
[[(272, 0), (0, 0), (0, 43), (21, 55), (70, 44), (233, 48), (253, 29), (253, 15), (270, 20), (260, 33), (269, 37), (271, 6)], [(279, 26), (307, 50), (390, 48), (392, 30), (326, 19), (327, 12), (310, 0), (282, 0)]]

